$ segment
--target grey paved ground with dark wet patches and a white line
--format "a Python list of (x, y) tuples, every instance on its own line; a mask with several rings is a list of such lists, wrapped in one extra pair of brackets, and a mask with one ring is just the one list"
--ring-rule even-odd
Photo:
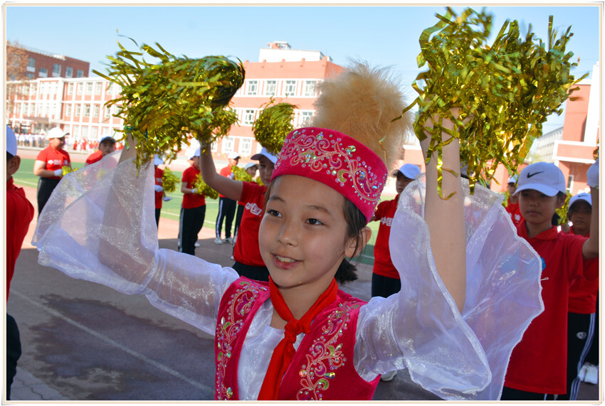
[[(85, 156), (84, 156), (85, 157)], [(25, 188), (35, 204), (36, 191)], [(12, 400), (211, 400), (214, 345), (211, 336), (127, 296), (56, 269), (41, 267), (29, 242), (23, 243), (11, 283), (7, 312), (21, 331), (23, 356)], [(178, 223), (162, 218), (159, 245), (176, 249)], [(231, 265), (231, 245), (215, 245), (203, 228), (196, 255)], [(344, 290), (369, 299), (371, 269)], [(583, 384), (581, 400), (599, 400), (599, 387)], [(3, 395), (3, 400), (4, 400)], [(374, 400), (437, 400), (405, 371), (380, 383)], [(6, 402), (6, 400), (4, 400)]]

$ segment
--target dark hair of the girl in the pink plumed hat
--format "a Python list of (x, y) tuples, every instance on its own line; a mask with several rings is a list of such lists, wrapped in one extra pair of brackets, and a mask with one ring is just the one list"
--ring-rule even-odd
[[(267, 201), (269, 200), (269, 196), (271, 194), (271, 190), (273, 189), (273, 185), (275, 185), (275, 179), (271, 181), (271, 184), (268, 186), (267, 191), (265, 191), (265, 209), (267, 208)], [(349, 199), (344, 198), (344, 205), (342, 205), (342, 213), (344, 215), (344, 220), (347, 222), (347, 239), (355, 238), (355, 251), (357, 252), (357, 248), (359, 245), (363, 243), (362, 230), (367, 225), (367, 219), (362, 210), (359, 210), (356, 205), (349, 201)], [(361, 255), (364, 252), (357, 252), (357, 256)], [(336, 274), (334, 275), (336, 282), (338, 284), (345, 284), (347, 282), (353, 282), (357, 280), (357, 267), (353, 265), (349, 260), (344, 258), (338, 269)]]

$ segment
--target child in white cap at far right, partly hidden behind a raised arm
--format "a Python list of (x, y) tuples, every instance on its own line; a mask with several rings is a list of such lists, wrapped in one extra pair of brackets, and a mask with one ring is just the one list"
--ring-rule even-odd
[[(592, 200), (589, 193), (578, 193), (569, 200), (567, 218), (572, 221), (569, 234), (589, 237)], [(589, 261), (593, 272), (599, 272), (599, 260)], [(577, 400), (580, 388), (579, 370), (584, 365), (596, 331), (596, 297), (599, 278), (574, 279), (569, 287), (569, 313), (567, 314), (567, 393), (557, 400)], [(598, 345), (598, 344), (597, 344)]]

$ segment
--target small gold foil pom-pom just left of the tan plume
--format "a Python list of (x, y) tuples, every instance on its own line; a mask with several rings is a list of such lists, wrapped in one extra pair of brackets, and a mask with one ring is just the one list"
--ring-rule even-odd
[(277, 155), (285, 137), (288, 137), (294, 129), (292, 124), (294, 109), (298, 106), (285, 102), (275, 104), (273, 98), (265, 106), (254, 121), (252, 131), (259, 144), (270, 154)]

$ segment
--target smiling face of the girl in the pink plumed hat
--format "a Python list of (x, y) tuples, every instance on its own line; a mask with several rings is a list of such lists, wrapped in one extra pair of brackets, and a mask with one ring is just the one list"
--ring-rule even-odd
[(261, 255), (280, 289), (322, 294), (357, 241), (347, 238), (344, 197), (296, 175), (273, 180), (258, 233)]

